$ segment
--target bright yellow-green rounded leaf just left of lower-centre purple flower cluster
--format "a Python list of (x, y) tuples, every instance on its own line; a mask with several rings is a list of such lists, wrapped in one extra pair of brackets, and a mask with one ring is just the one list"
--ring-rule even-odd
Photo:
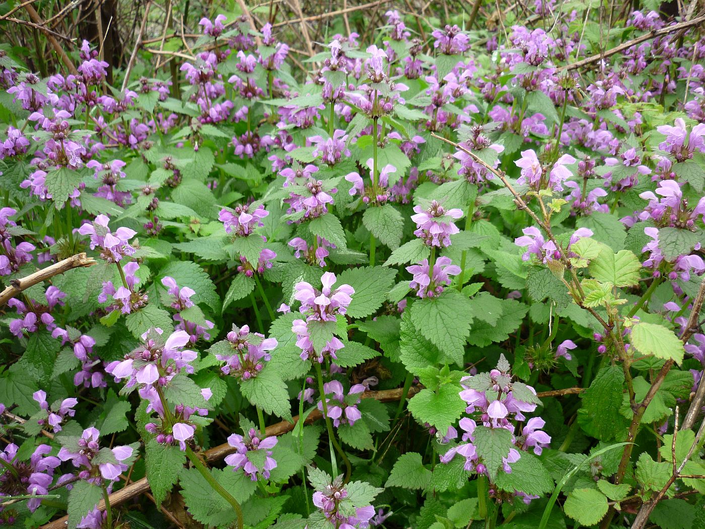
[(448, 427), (460, 419), (465, 411), (465, 401), (460, 399), (460, 387), (456, 384), (444, 384), (436, 391), (422, 389), (413, 396), (408, 409), (414, 418), (435, 426), (442, 434), (448, 432)]

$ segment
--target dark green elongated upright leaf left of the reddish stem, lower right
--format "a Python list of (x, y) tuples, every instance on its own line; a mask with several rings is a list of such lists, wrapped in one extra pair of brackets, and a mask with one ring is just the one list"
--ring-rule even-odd
[(619, 413), (622, 406), (624, 372), (621, 367), (603, 367), (580, 398), (577, 422), (585, 433), (601, 441), (617, 438), (624, 431)]

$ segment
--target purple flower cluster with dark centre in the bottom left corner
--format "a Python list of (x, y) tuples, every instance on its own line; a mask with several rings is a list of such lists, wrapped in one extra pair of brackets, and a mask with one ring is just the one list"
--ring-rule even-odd
[[(51, 446), (40, 444), (30, 456), (30, 461), (18, 460), (19, 447), (10, 443), (0, 451), (0, 459), (5, 466), (13, 468), (14, 473), (6, 468), (0, 473), (0, 497), (3, 496), (42, 496), (49, 494), (54, 469), (61, 465), (59, 458), (49, 456)], [(33, 498), (27, 501), (27, 509), (34, 512), (39, 508), (42, 500)]]

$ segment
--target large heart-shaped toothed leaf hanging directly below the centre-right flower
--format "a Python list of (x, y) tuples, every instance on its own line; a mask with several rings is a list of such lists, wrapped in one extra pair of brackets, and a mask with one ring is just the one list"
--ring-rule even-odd
[(438, 298), (416, 300), (411, 306), (411, 321), (425, 338), (462, 365), (463, 345), (472, 322), (470, 310), (470, 300), (446, 289)]

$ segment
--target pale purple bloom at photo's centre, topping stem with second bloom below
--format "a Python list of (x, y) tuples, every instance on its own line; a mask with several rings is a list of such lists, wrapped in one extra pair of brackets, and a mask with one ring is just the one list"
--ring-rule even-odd
[(306, 281), (300, 281), (294, 286), (294, 298), (301, 302), (299, 312), (306, 314), (306, 321), (318, 320), (321, 322), (334, 322), (336, 315), (344, 315), (353, 300), (351, 296), (355, 289), (343, 284), (332, 290), (336, 283), (336, 274), (326, 272), (321, 277), (322, 287), (316, 290)]

